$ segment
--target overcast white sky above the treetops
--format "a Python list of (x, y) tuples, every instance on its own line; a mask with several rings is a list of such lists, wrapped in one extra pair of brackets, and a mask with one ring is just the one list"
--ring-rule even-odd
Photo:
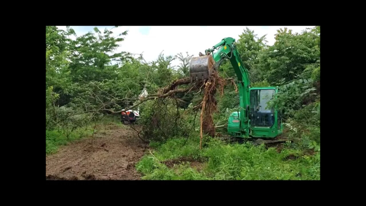
[[(66, 26), (57, 26), (59, 29), (66, 30)], [(78, 36), (93, 31), (95, 26), (71, 26)], [(97, 26), (102, 32), (105, 28), (111, 29), (113, 26)], [(306, 28), (314, 26), (247, 26), (254, 30), (258, 37), (267, 34), (269, 45), (275, 43), (275, 34), (280, 28), (287, 27), (293, 33), (302, 32)], [(243, 32), (246, 26), (121, 26), (113, 28), (115, 36), (128, 30), (125, 40), (120, 43), (117, 52), (126, 51), (135, 54), (141, 54), (147, 62), (156, 60), (161, 51), (163, 54), (176, 55), (185, 52), (190, 55), (198, 56), (199, 52), (212, 48), (223, 38), (232, 37), (237, 40), (239, 34)], [(173, 66), (179, 64), (178, 60), (172, 62)]]

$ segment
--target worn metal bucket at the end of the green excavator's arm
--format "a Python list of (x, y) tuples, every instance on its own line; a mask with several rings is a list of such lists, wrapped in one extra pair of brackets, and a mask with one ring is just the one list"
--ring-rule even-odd
[(191, 60), (190, 73), (193, 81), (208, 79), (214, 69), (212, 55), (198, 56)]

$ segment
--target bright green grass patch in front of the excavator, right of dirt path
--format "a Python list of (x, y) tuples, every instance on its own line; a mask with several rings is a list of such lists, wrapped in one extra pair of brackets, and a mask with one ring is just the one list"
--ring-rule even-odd
[[(155, 148), (136, 165), (144, 180), (320, 180), (320, 151), (309, 156), (302, 149), (290, 146), (278, 152), (276, 148), (251, 143), (227, 144), (211, 139), (199, 150), (199, 139), (168, 140), (164, 144), (150, 143)], [(190, 157), (205, 159), (202, 170), (189, 163), (168, 168), (164, 161)]]

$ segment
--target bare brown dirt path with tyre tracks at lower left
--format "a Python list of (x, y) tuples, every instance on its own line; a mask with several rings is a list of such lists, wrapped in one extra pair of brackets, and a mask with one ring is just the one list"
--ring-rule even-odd
[(46, 180), (139, 180), (135, 163), (147, 145), (129, 126), (102, 127), (93, 138), (69, 143), (46, 156)]

